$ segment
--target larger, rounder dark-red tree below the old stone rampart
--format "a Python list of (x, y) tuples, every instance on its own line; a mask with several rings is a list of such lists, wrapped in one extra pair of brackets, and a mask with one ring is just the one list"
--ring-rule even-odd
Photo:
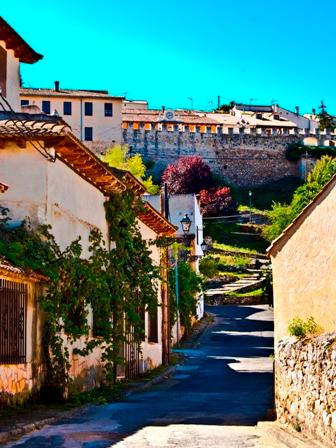
[(199, 156), (180, 157), (168, 165), (162, 182), (167, 182), (168, 190), (173, 194), (199, 193), (213, 186), (211, 169)]

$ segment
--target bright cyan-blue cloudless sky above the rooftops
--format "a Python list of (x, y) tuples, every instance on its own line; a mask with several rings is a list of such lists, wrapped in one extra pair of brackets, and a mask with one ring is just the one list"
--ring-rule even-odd
[[(44, 59), (26, 87), (108, 89), (152, 107), (271, 101), (336, 113), (334, 0), (3, 2)], [(190, 99), (192, 98), (192, 100)]]

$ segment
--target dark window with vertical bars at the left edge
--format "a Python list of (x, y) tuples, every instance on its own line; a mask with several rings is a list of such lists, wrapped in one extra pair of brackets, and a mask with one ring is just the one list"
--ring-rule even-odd
[(0, 279), (0, 363), (26, 362), (27, 285)]

